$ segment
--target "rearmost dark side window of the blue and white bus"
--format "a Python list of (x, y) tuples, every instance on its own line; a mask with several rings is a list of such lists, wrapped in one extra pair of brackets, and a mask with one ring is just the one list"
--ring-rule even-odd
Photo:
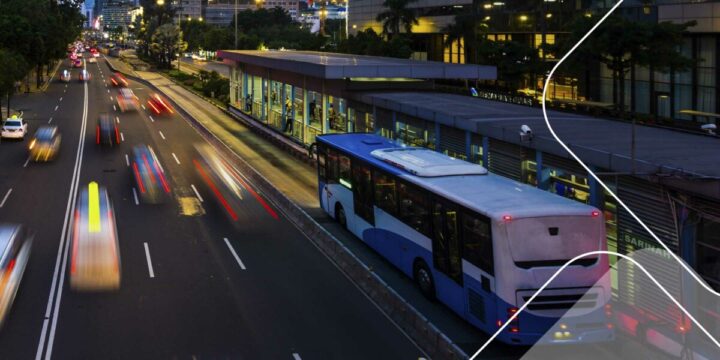
[(482, 271), (494, 275), (490, 220), (473, 212), (463, 214), (463, 257)]

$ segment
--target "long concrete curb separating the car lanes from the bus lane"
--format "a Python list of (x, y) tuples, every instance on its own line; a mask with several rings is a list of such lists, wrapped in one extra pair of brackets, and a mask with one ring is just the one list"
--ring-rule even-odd
[[(107, 61), (107, 64), (113, 71), (118, 71), (109, 61)], [(128, 74), (126, 75), (131, 76), (134, 80), (158, 92), (164, 93), (161, 89), (144, 79)], [(260, 190), (259, 193), (267, 197), (271, 203), (282, 211), (288, 220), (310, 240), (310, 243), (324, 253), (388, 319), (418, 346), (418, 348), (426, 352), (429, 357), (436, 359), (455, 360), (467, 359), (469, 357), (414, 306), (405, 301), (402, 296), (388, 286), (379, 275), (355, 256), (342, 242), (285, 196), (285, 194), (277, 190), (268, 179), (255, 170), (255, 168), (248, 164), (240, 155), (235, 153), (227, 144), (217, 138), (215, 134), (205, 128), (202, 123), (190, 116), (183, 107), (178, 106), (178, 104), (169, 97), (168, 100), (174, 103), (175, 107), (182, 112), (185, 119), (198, 134), (212, 144), (216, 150), (226, 155), (226, 159), (233, 159), (233, 165)]]

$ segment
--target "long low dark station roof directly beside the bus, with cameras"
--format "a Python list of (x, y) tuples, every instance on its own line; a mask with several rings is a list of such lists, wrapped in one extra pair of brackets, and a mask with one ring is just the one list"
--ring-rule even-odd
[[(355, 99), (570, 158), (553, 138), (538, 107), (436, 92), (370, 92), (358, 94)], [(548, 119), (558, 137), (587, 165), (600, 168), (598, 171), (631, 173), (631, 124), (559, 111), (548, 111)], [(532, 129), (532, 141), (521, 141), (522, 125)], [(692, 190), (720, 198), (717, 137), (638, 125), (635, 144), (638, 176), (663, 178), (668, 184), (673, 180), (703, 180), (702, 185)], [(679, 184), (687, 187), (687, 182)], [(703, 186), (710, 188), (702, 189)]]

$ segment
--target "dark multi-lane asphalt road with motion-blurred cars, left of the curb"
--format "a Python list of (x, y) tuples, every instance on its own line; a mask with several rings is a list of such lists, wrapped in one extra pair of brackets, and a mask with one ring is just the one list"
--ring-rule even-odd
[[(64, 68), (64, 66), (63, 66)], [(62, 68), (61, 68), (62, 69)], [(85, 85), (55, 79), (24, 95), (30, 134), (51, 123), (59, 158), (26, 162), (26, 142), (0, 144), (0, 220), (28, 225), (33, 253), (0, 331), (2, 359), (417, 359), (422, 351), (272, 204), (246, 191), (242, 224), (231, 226), (192, 167), (202, 138), (179, 115), (120, 113), (104, 61)], [(130, 88), (142, 102), (150, 90)], [(116, 149), (95, 145), (100, 113), (120, 124)], [(174, 199), (137, 204), (125, 155), (150, 145)], [(66, 276), (63, 229), (77, 188), (97, 181), (114, 202), (122, 286), (78, 293)], [(197, 194), (193, 190), (197, 189)], [(250, 184), (252, 187), (252, 184)], [(200, 202), (201, 197), (205, 201)], [(183, 212), (181, 201), (201, 206)], [(227, 239), (227, 240), (226, 240)]]

